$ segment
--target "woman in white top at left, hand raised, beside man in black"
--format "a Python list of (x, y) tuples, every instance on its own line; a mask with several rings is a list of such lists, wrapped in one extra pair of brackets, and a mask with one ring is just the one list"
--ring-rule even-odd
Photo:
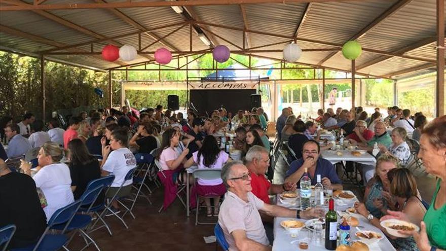
[[(39, 171), (32, 177), (35, 186), (42, 189), (48, 202), (44, 207), (47, 221), (53, 213), (69, 203), (75, 201), (71, 192), (70, 171), (66, 164), (61, 163), (63, 150), (55, 142), (46, 142), (39, 150), (37, 156)], [(24, 173), (31, 175), (31, 165), (22, 161), (20, 166)]]

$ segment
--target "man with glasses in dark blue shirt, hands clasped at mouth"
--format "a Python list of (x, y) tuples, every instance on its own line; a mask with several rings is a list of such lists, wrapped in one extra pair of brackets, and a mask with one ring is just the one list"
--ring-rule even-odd
[(324, 188), (342, 190), (342, 182), (336, 173), (336, 168), (328, 160), (319, 158), (319, 143), (315, 140), (308, 140), (304, 143), (302, 149), (302, 159), (291, 162), (285, 175), (285, 183), (296, 183), (300, 188), (301, 177), (304, 175), (305, 168), (307, 168), (311, 185), (316, 185), (316, 175), (320, 174)]

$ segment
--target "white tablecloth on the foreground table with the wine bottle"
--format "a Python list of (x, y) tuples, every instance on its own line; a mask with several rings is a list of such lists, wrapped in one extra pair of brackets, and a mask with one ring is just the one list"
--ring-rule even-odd
[[(288, 204), (282, 204), (279, 200), (279, 197), (276, 197), (276, 200), (278, 201), (278, 205), (281, 206), (287, 206)], [(337, 200), (335, 201), (335, 205), (334, 205), (334, 209), (335, 210), (345, 210), (351, 206), (353, 206), (355, 200), (352, 200), (350, 203), (343, 203), (343, 206), (340, 206), (337, 203)], [(289, 206), (289, 205), (288, 205)], [(298, 205), (299, 206), (299, 205)], [(274, 243), (273, 243), (273, 251), (296, 251), (296, 250), (300, 250), (299, 249), (299, 241), (295, 241), (295, 240), (301, 240), (303, 238), (305, 238), (306, 236), (304, 236), (304, 233), (306, 233), (306, 231), (301, 231), (301, 233), (299, 233), (299, 235), (295, 238), (291, 237), (291, 235), (282, 227), (280, 226), (280, 222), (282, 222), (283, 220), (286, 220), (288, 218), (281, 218), (281, 217), (276, 217), (274, 219)], [(338, 219), (340, 219), (340, 217), (338, 216)], [(378, 233), (381, 233), (384, 236), (384, 233), (379, 229), (376, 228), (375, 226), (371, 225), (370, 223), (368, 223), (368, 220), (360, 217), (359, 219), (359, 226), (362, 226), (364, 228), (362, 228), (361, 230), (369, 230), (369, 231), (375, 231)], [(306, 222), (307, 220), (300, 220), (302, 222)], [(355, 236), (356, 230), (354, 228), (350, 229), (350, 236), (352, 240), (357, 240), (358, 238)], [(294, 243), (291, 243), (292, 241), (294, 241)], [(326, 250), (324, 247), (324, 242), (321, 243), (320, 246), (317, 246), (315, 244), (311, 243), (310, 239), (306, 239), (305, 241), (309, 242), (309, 247), (308, 250), (311, 251), (318, 251), (318, 250)], [(391, 251), (391, 250), (395, 250), (395, 248), (392, 246), (392, 244), (389, 242), (389, 240), (384, 237), (382, 240), (380, 240), (378, 243), (374, 243), (373, 245), (369, 246), (370, 250), (373, 251)]]

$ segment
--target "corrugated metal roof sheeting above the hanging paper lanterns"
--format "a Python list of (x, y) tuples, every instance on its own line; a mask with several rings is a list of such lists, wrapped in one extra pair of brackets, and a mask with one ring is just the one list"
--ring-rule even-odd
[[(107, 2), (117, 1), (119, 0), (107, 0)], [(25, 2), (32, 3), (32, 0), (26, 0)], [(357, 2), (313, 3), (307, 14), (307, 19), (302, 24), (298, 37), (302, 39), (316, 40), (322, 43), (343, 44), (396, 2), (397, 0), (365, 0)], [(48, 0), (44, 4), (61, 3), (91, 4), (93, 2), (91, 2), (91, 0)], [(296, 26), (300, 22), (306, 6), (307, 4), (303, 3), (256, 4), (243, 5), (243, 8), (246, 13), (246, 25), (248, 29), (292, 36)], [(194, 6), (189, 8), (204, 22), (237, 28), (243, 28), (244, 26), (241, 6), (239, 5)], [(435, 9), (435, 0), (413, 0), (411, 3), (405, 5), (386, 20), (369, 30), (358, 41), (363, 48), (395, 52), (418, 41), (435, 36)], [(174, 24), (184, 20), (181, 15), (175, 13), (170, 7), (122, 8), (119, 9), (119, 11), (145, 28)], [(122, 20), (112, 11), (107, 9), (71, 9), (52, 10), (49, 12), (105, 37), (114, 37), (138, 31), (136, 27)], [(96, 40), (96, 38), (91, 37), (88, 34), (61, 25), (32, 11), (2, 12), (0, 15), (0, 24), (66, 45), (74, 45)], [(154, 33), (158, 37), (163, 37), (177, 27), (179, 26), (166, 27), (156, 30)], [(210, 25), (204, 27), (226, 40), (243, 47), (242, 31)], [(284, 38), (271, 37), (263, 34), (247, 34), (251, 42), (251, 47), (286, 41)], [(164, 39), (164, 41), (181, 51), (189, 51), (189, 39), (189, 25), (187, 25), (171, 34)], [(218, 44), (227, 45), (231, 50), (239, 50), (237, 47), (232, 46), (215, 36), (214, 39)], [(132, 45), (135, 48), (138, 47), (137, 34), (119, 38), (115, 41), (121, 44)], [(146, 34), (142, 34), (142, 48), (153, 42), (155, 42), (155, 39)], [(95, 52), (100, 52), (104, 44), (106, 43), (94, 43), (93, 50)], [(303, 49), (331, 48), (327, 45), (302, 41), (299, 41), (298, 44)], [(281, 50), (285, 45), (286, 43), (283, 43), (265, 48), (258, 48), (257, 50)], [(12, 35), (5, 32), (0, 33), (0, 46), (28, 51), (30, 53), (54, 48), (53, 46), (44, 44), (44, 41), (32, 41), (30, 39), (18, 37), (17, 34)], [(161, 43), (156, 43), (145, 51), (155, 51), (161, 47), (166, 46)], [(90, 45), (84, 45), (78, 48), (90, 51)], [(194, 31), (193, 50), (198, 51), (204, 49), (208, 49), (208, 47), (203, 44)], [(282, 58), (281, 52), (255, 54), (277, 59)], [(329, 54), (330, 52), (304, 52), (299, 61), (307, 64), (317, 64)], [(435, 59), (435, 43), (407, 52), (406, 55)], [(92, 55), (52, 55), (52, 57), (98, 68), (118, 66), (116, 63), (106, 62), (97, 56)], [(361, 57), (356, 60), (356, 65), (363, 65), (379, 57), (381, 57), (381, 55), (363, 51)], [(135, 59), (136, 62), (143, 60), (147, 59), (142, 56), (138, 56), (138, 58)], [(390, 73), (414, 66), (420, 66), (425, 63), (426, 62), (418, 60), (391, 58), (373, 66), (360, 69), (359, 72), (386, 76)], [(341, 68), (350, 71), (351, 62), (346, 60), (341, 53), (337, 53), (324, 62), (322, 66)]]

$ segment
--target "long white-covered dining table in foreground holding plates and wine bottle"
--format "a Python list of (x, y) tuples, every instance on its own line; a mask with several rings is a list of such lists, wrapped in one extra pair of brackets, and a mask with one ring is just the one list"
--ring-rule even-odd
[[(299, 190), (298, 190), (299, 193)], [(280, 206), (284, 206), (284, 207), (288, 207), (288, 208), (292, 208), (292, 209), (296, 209), (300, 207), (300, 200), (297, 199), (296, 203), (294, 205), (288, 204), (288, 203), (284, 203), (281, 201), (280, 197), (277, 195), (276, 196), (276, 204), (280, 205)], [(312, 197), (312, 200), (314, 199), (314, 197)], [(356, 197), (346, 201), (346, 200), (341, 200), (341, 199), (334, 199), (334, 209), (339, 213), (343, 214), (346, 212), (345, 211), (347, 208), (349, 207), (353, 207), (354, 203), (357, 201)], [(328, 210), (328, 206), (324, 207), (325, 211)], [(367, 219), (365, 219), (364, 217), (357, 217), (355, 216), (358, 221), (359, 221), (359, 227), (361, 229), (361, 231), (374, 231), (377, 232), (379, 234), (381, 234), (384, 238), (379, 240), (376, 243), (370, 244), (369, 246), (369, 250), (373, 250), (373, 251), (392, 251), (395, 250), (395, 248), (392, 246), (392, 244), (390, 243), (390, 241), (387, 239), (387, 237), (385, 237), (384, 233), (377, 227), (371, 225)], [(338, 215), (338, 221), (341, 219), (341, 217)], [(315, 244), (311, 241), (311, 234), (312, 234), (312, 230), (309, 230), (307, 228), (302, 229), (298, 235), (292, 236), (290, 233), (287, 232), (287, 230), (285, 230), (280, 223), (284, 220), (290, 220), (290, 218), (283, 218), (283, 217), (276, 217), (274, 218), (274, 242), (273, 242), (273, 251), (295, 251), (295, 250), (301, 250), (299, 249), (299, 242), (300, 241), (306, 241), (309, 246), (308, 246), (308, 250), (312, 250), (312, 251), (319, 251), (319, 250), (326, 250), (324, 247), (324, 242), (323, 240), (321, 241), (320, 244)], [(308, 220), (304, 220), (304, 219), (292, 219), (292, 220), (298, 220), (300, 222), (305, 223)], [(309, 234), (310, 233), (310, 234)], [(356, 235), (356, 230), (355, 228), (351, 228), (350, 229), (350, 237), (352, 241), (355, 240), (359, 240)]]

